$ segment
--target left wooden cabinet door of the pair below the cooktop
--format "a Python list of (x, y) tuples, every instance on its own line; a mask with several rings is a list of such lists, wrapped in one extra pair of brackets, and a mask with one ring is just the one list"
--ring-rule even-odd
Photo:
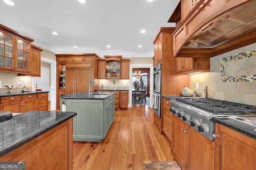
[(172, 151), (175, 154), (175, 160), (182, 169), (186, 169), (187, 160), (187, 130), (186, 123), (178, 117), (173, 117), (173, 144)]

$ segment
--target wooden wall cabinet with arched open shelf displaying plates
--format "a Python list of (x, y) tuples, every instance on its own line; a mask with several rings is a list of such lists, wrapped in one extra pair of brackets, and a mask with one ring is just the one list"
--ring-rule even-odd
[(98, 61), (98, 78), (129, 79), (130, 59), (122, 55), (104, 55), (105, 59)]

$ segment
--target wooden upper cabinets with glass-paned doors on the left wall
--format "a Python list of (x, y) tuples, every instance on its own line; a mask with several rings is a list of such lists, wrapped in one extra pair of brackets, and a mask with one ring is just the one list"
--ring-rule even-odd
[(41, 49), (26, 37), (0, 24), (0, 71), (40, 76)]

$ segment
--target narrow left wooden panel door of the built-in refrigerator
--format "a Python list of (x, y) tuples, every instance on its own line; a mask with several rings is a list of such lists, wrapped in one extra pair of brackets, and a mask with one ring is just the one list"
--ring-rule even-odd
[(75, 92), (76, 69), (66, 68), (66, 94)]

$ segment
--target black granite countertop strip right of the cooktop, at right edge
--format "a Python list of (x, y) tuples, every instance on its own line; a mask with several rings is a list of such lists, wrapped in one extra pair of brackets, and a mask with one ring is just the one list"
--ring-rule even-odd
[(240, 132), (248, 137), (256, 139), (256, 128), (255, 127), (250, 127), (250, 126), (244, 125), (243, 123), (240, 123), (238, 121), (230, 120), (227, 118), (213, 117), (212, 120), (215, 121), (216, 123), (219, 123), (219, 124), (224, 125), (230, 129)]

